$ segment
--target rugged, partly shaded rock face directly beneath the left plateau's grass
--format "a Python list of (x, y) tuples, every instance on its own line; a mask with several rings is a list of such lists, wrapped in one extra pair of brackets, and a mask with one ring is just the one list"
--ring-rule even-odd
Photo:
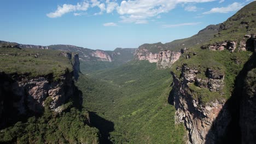
[[(24, 114), (27, 111), (42, 112), (44, 100), (47, 97), (53, 99), (50, 107), (55, 110), (71, 98), (73, 94), (72, 73), (61, 76), (59, 81), (51, 80), (50, 76), (26, 78), (27, 76), (22, 75), (7, 75), (4, 73), (0, 75), (2, 78), (0, 84), (2, 87), (2, 103), (7, 106), (6, 104), (12, 101), (13, 109), (18, 110), (18, 114)], [(7, 97), (11, 97), (11, 99)]]

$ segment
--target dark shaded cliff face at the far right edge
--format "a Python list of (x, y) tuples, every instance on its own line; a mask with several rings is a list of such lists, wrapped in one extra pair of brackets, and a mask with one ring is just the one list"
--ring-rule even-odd
[(256, 141), (256, 53), (245, 67), (245, 79), (243, 79), (241, 103), (240, 103), (240, 127), (242, 143), (255, 143)]

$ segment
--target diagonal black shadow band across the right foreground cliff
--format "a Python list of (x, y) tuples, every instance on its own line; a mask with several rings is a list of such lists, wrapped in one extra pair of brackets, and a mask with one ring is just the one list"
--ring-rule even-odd
[[(219, 135), (217, 137), (218, 141), (216, 143), (241, 143), (241, 128), (240, 128), (240, 104), (243, 97), (243, 83), (247, 75), (247, 72), (253, 67), (256, 67), (256, 58), (255, 53), (251, 56), (248, 62), (244, 65), (243, 69), (236, 76), (235, 87), (232, 95), (228, 101), (226, 101), (224, 108), (229, 111), (231, 115), (231, 121), (228, 124), (228, 127), (225, 130), (224, 135)], [(224, 113), (225, 114), (225, 113)], [(216, 127), (217, 122), (223, 115), (223, 110), (219, 113), (216, 120), (213, 122), (213, 125), (206, 136), (206, 144), (212, 142), (212, 134), (218, 135), (218, 129)], [(215, 133), (214, 133), (215, 131)]]

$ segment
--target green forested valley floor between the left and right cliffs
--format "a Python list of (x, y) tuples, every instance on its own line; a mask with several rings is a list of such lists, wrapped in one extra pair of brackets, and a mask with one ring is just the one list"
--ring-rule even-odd
[(84, 77), (77, 85), (86, 109), (114, 122), (114, 143), (182, 143), (184, 129), (174, 124), (175, 109), (167, 102), (169, 71), (146, 61), (130, 62), (90, 76), (97, 80)]

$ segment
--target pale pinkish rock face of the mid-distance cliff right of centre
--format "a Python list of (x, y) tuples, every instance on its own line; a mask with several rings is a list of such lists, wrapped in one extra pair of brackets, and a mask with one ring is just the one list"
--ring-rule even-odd
[(149, 52), (147, 49), (137, 49), (135, 57), (137, 60), (147, 60), (150, 63), (156, 63), (160, 69), (170, 68), (181, 56), (181, 52), (170, 50), (160, 51), (158, 53)]

